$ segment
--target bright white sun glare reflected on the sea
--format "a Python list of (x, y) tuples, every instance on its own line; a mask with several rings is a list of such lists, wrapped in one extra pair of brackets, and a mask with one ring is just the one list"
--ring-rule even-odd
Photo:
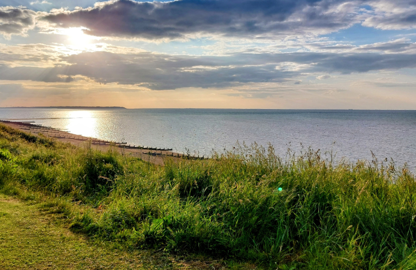
[(95, 137), (97, 130), (97, 119), (94, 117), (93, 111), (89, 110), (71, 110), (68, 111), (68, 124), (66, 128), (68, 132)]

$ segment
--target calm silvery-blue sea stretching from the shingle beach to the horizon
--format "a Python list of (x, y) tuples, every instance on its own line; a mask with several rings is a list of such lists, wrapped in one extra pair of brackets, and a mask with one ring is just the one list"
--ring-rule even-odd
[[(44, 118), (44, 119), (41, 119)], [(130, 144), (210, 154), (237, 140), (274, 145), (280, 156), (300, 143), (337, 159), (393, 158), (416, 167), (416, 111), (275, 109), (0, 109), (0, 119), (25, 119), (69, 132)]]

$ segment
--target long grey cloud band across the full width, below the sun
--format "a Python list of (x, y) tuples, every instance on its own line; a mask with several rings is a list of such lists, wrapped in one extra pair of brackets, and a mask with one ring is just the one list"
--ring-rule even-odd
[(49, 68), (0, 65), (0, 79), (69, 82), (87, 77), (100, 83), (132, 84), (153, 90), (230, 87), (251, 82), (298, 81), (310, 73), (414, 68), (416, 54), (296, 52), (189, 56), (84, 52), (62, 57), (62, 62), (68, 64)]

